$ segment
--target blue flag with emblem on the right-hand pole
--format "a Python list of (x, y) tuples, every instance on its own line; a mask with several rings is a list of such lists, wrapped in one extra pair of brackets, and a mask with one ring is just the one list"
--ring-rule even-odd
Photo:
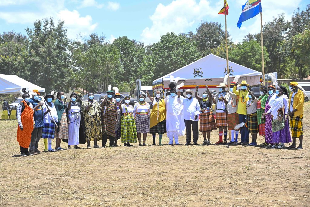
[(247, 0), (246, 3), (242, 6), (242, 13), (237, 23), (239, 29), (243, 21), (255, 17), (260, 12), (262, 12), (261, 0)]

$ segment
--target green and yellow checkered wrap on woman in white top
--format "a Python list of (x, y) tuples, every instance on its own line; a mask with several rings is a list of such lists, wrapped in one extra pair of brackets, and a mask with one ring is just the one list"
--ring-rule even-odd
[(121, 118), (122, 143), (137, 143), (135, 119), (132, 114), (124, 113)]

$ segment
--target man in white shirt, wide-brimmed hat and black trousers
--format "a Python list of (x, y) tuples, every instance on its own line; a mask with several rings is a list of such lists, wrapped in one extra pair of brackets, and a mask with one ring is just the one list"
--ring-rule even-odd
[(200, 114), (200, 105), (196, 98), (193, 98), (194, 92), (190, 89), (183, 93), (186, 99), (182, 100), (181, 92), (178, 91), (178, 103), (184, 106), (184, 123), (186, 128), (186, 144), (191, 144), (191, 128), (193, 130), (193, 142), (194, 145), (198, 145), (198, 115)]

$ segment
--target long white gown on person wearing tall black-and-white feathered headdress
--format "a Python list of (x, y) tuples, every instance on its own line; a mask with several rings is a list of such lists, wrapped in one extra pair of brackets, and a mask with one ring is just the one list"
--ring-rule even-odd
[[(185, 99), (183, 96), (181, 99)], [(165, 98), (166, 103), (166, 130), (177, 131), (179, 136), (185, 134), (185, 123), (183, 114), (183, 105), (178, 103), (178, 96), (171, 97), (171, 95)]]

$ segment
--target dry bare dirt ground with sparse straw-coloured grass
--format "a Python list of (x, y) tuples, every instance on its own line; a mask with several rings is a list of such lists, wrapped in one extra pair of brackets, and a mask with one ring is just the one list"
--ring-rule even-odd
[[(120, 146), (24, 158), (18, 156), (17, 121), (1, 120), (0, 206), (310, 206), (309, 112), (307, 103), (299, 151)], [(218, 132), (212, 132), (216, 141)]]

